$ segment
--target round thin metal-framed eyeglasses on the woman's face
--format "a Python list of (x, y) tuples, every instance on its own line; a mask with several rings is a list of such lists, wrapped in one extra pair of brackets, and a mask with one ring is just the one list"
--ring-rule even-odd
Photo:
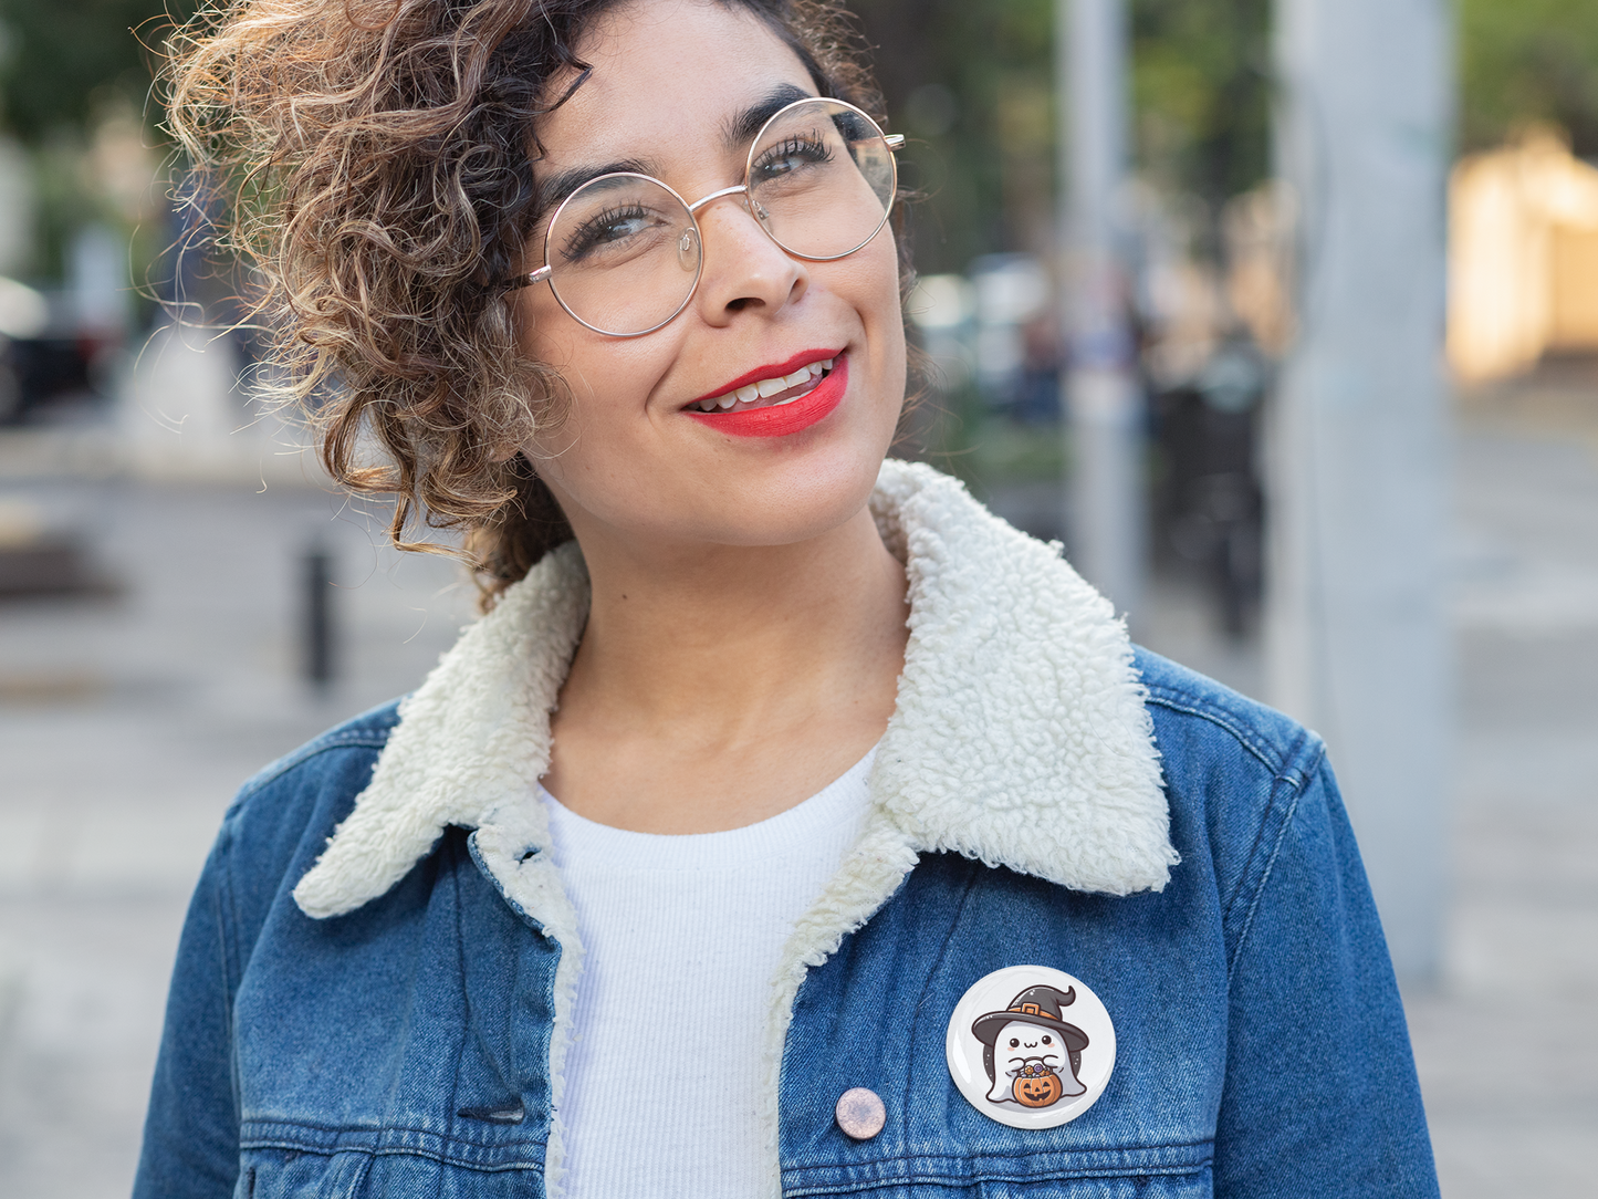
[(555, 209), (543, 265), (511, 288), (548, 283), (555, 299), (594, 333), (641, 337), (694, 297), (705, 267), (695, 213), (737, 195), (778, 246), (813, 262), (853, 254), (893, 206), (903, 137), (836, 99), (802, 99), (761, 126), (743, 182), (692, 205), (647, 174), (590, 179)]

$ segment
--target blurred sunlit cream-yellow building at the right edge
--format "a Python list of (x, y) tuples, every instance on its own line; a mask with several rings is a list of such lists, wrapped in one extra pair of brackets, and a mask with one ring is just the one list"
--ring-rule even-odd
[(1449, 185), (1448, 360), (1459, 379), (1598, 352), (1598, 168), (1539, 129)]

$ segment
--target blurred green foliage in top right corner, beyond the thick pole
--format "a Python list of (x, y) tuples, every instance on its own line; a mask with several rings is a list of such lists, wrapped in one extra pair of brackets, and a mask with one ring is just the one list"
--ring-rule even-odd
[(1598, 3), (1457, 0), (1461, 141), (1478, 150), (1550, 121), (1598, 157)]

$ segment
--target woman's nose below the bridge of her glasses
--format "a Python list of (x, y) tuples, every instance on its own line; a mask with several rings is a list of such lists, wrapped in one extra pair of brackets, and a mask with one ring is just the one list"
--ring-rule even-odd
[(706, 323), (725, 325), (749, 310), (777, 312), (804, 294), (807, 265), (765, 235), (745, 193), (721, 195), (697, 216), (705, 265), (695, 304)]

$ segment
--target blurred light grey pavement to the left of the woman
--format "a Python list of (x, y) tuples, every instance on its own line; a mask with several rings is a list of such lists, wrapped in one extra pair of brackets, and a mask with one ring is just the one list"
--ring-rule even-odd
[[(189, 890), (238, 785), (412, 689), (473, 609), (447, 560), (300, 484), (40, 481), (120, 598), (0, 607), (0, 1196), (126, 1194)], [(342, 679), (297, 678), (300, 558)]]

